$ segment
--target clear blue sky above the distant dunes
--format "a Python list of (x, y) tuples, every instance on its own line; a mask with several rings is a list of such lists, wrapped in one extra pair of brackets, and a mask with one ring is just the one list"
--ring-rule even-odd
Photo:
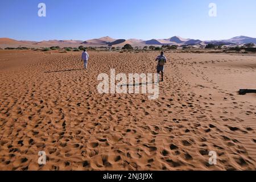
[[(46, 17), (38, 16), (39, 3), (46, 4)], [(209, 16), (209, 3), (217, 16)], [(0, 1), (0, 38), (255, 38), (255, 7), (255, 0), (8, 0)]]

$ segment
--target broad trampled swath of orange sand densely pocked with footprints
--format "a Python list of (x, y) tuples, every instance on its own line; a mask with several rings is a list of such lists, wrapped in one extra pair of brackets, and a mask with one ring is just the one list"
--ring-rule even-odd
[[(21, 81), (18, 87), (23, 89), (26, 84), (31, 89), (15, 92), (15, 96), (20, 96), (16, 97), (18, 100), (1, 93), (1, 168), (255, 169), (255, 158), (243, 157), (248, 154), (247, 149), (236, 135), (244, 140), (249, 139), (247, 135), (255, 136), (253, 127), (241, 127), (240, 123), (245, 122), (246, 116), (255, 117), (256, 107), (250, 105), (246, 113), (240, 113), (247, 103), (237, 103), (232, 94), (218, 88), (195, 67), (197, 62), (167, 54), (172, 62), (155, 101), (148, 101), (143, 95), (96, 92), (98, 73), (108, 73), (110, 68), (125, 73), (138, 71), (133, 65), (151, 72), (155, 63), (148, 64), (148, 61), (155, 56), (156, 53), (92, 53), (95, 61), (89, 65), (88, 72), (77, 66), (78, 55), (61, 59), (52, 56), (32, 65), (42, 70), (50, 67), (54, 71), (67, 68), (74, 71), (30, 73), (32, 82)], [(106, 62), (103, 66), (102, 61)], [(230, 108), (217, 108), (216, 113), (217, 106), (210, 94), (205, 97), (191, 92), (194, 85), (184, 77), (184, 67), (222, 93), (224, 101), (232, 102), (234, 113)], [(94, 79), (89, 81), (89, 75)], [(256, 138), (250, 140), (255, 144)], [(36, 163), (40, 150), (47, 153), (45, 166)], [(218, 161), (224, 167), (209, 165), (208, 154), (212, 150), (217, 152)]]

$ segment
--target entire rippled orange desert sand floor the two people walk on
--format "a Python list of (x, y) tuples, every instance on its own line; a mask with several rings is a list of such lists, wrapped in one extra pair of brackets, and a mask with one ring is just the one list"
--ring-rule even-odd
[(256, 94), (237, 91), (256, 89), (256, 56), (170, 52), (158, 100), (97, 92), (158, 53), (89, 52), (84, 70), (81, 52), (0, 50), (0, 170), (255, 170)]

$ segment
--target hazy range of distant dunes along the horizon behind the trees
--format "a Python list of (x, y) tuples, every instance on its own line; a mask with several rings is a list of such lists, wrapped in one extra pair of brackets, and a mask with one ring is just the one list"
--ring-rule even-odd
[(51, 47), (51, 46), (60, 46), (60, 47), (122, 47), (125, 44), (131, 44), (131, 46), (143, 47), (143, 46), (162, 46), (162, 45), (177, 45), (177, 46), (186, 46), (186, 45), (206, 45), (209, 43), (213, 44), (223, 44), (223, 45), (236, 45), (236, 44), (246, 44), (254, 43), (256, 44), (256, 38), (250, 38), (248, 36), (236, 36), (228, 40), (199, 40), (199, 39), (184, 39), (180, 36), (173, 36), (167, 39), (151, 39), (151, 40), (141, 40), (141, 39), (113, 39), (109, 36), (105, 36), (98, 39), (90, 40), (44, 40), (42, 42), (33, 42), (27, 40), (14, 40), (9, 38), (0, 38), (0, 47)]

